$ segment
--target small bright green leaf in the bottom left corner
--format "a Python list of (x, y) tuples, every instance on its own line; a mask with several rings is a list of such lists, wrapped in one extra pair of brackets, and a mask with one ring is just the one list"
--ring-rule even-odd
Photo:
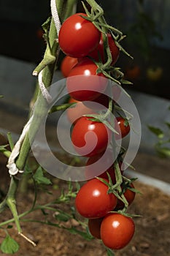
[(4, 238), (4, 241), (1, 243), (0, 249), (2, 252), (7, 254), (14, 254), (18, 252), (20, 248), (19, 244), (9, 236), (9, 234)]

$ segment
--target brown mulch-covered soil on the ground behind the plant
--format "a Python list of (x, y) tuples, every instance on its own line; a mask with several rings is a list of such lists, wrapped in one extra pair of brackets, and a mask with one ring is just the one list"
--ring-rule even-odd
[[(2, 118), (3, 116), (3, 118)], [(0, 112), (1, 127), (7, 129), (11, 127), (12, 132), (20, 132), (26, 120), (17, 118), (15, 115), (4, 115)], [(1, 138), (1, 143), (3, 143)], [(0, 188), (2, 191), (7, 191), (9, 185), (9, 176), (5, 167), (7, 160), (0, 155)], [(158, 159), (155, 156), (139, 153), (134, 160), (136, 169), (147, 175), (155, 178), (160, 178), (169, 182), (168, 167), (169, 162)], [(120, 251), (115, 252), (116, 256), (169, 256), (170, 255), (170, 197), (164, 194), (159, 189), (144, 185), (138, 181), (135, 183), (136, 189), (142, 192), (142, 195), (136, 195), (134, 203), (130, 206), (129, 212), (139, 214), (142, 217), (134, 219), (136, 224), (136, 233), (131, 243)], [(47, 195), (46, 192), (39, 192), (39, 203), (47, 203), (53, 200), (58, 195), (61, 188), (66, 187), (66, 182), (53, 179), (53, 185), (58, 185), (60, 189), (55, 189), (55, 186), (50, 187), (52, 195)], [(18, 210), (20, 213), (31, 207), (34, 200), (33, 189), (30, 187), (26, 194), (18, 195)], [(73, 202), (74, 203), (74, 202)], [(56, 208), (57, 211), (57, 208)], [(67, 208), (66, 208), (67, 211)], [(11, 218), (9, 211), (5, 211), (0, 215), (0, 222)], [(28, 218), (42, 220), (45, 218), (41, 211), (31, 213)], [(53, 214), (47, 216), (48, 220), (54, 221)], [(61, 230), (56, 227), (42, 225), (36, 222), (22, 222), (23, 233), (35, 241), (37, 246), (34, 247), (25, 239), (18, 236), (17, 230), (13, 227), (10, 230), (12, 238), (20, 244), (20, 250), (15, 255), (19, 256), (96, 256), (107, 255), (101, 241), (93, 239), (85, 241), (84, 238), (78, 235), (70, 234), (67, 230)], [(68, 223), (70, 225), (70, 223)], [(77, 222), (72, 222), (72, 225), (77, 225)], [(0, 230), (0, 243), (4, 238), (5, 233)]]

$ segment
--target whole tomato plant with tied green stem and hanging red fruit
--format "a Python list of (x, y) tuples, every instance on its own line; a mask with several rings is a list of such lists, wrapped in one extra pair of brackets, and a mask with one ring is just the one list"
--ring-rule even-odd
[[(12, 213), (11, 219), (5, 219), (0, 223), (0, 228), (6, 235), (0, 249), (5, 254), (17, 252), (19, 248), (18, 243), (8, 233), (8, 229), (12, 228), (13, 222), (15, 222), (18, 235), (26, 238), (28, 242), (36, 246), (34, 241), (31, 241), (30, 238), (27, 238), (22, 233), (20, 223), (21, 221), (25, 221), (25, 223), (29, 221), (26, 215), (37, 210), (42, 211), (45, 216), (47, 211), (53, 213), (51, 214), (53, 216), (52, 220), (47, 222), (46, 218), (42, 218), (42, 224), (64, 228), (71, 233), (77, 233), (84, 238), (90, 239), (92, 236), (87, 232), (87, 223), (82, 221), (82, 217), (88, 218), (90, 233), (96, 238), (101, 238), (104, 245), (108, 246), (107, 252), (109, 252), (109, 255), (111, 253), (109, 248), (123, 248), (134, 234), (134, 222), (127, 217), (129, 214), (126, 213), (128, 204), (131, 203), (128, 200), (128, 189), (130, 188), (128, 187), (126, 191), (123, 190), (124, 182), (131, 186), (131, 180), (125, 178), (121, 171), (121, 161), (125, 148), (121, 146), (118, 152), (118, 143), (113, 140), (115, 129), (120, 129), (120, 137), (117, 138), (123, 138), (130, 131), (130, 127), (128, 121), (122, 117), (117, 117), (114, 127), (108, 121), (109, 115), (124, 112), (121, 106), (116, 104), (116, 99), (120, 97), (121, 86), (128, 83), (128, 81), (123, 80), (123, 72), (120, 71), (120, 68), (113, 67), (113, 65), (119, 57), (120, 50), (128, 56), (130, 55), (120, 46), (120, 41), (125, 36), (121, 31), (107, 24), (104, 18), (104, 11), (95, 0), (82, 1), (86, 13), (77, 13), (69, 17), (73, 13), (75, 3), (76, 0), (51, 1), (52, 17), (42, 24), (43, 38), (46, 43), (45, 55), (33, 72), (33, 75), (38, 78), (36, 79), (36, 91), (30, 104), (31, 106), (34, 105), (34, 108), (30, 109), (28, 122), (23, 127), (17, 143), (14, 145), (12, 137), (8, 134), (7, 145), (0, 146), (1, 153), (9, 158), (7, 168), (9, 169), (10, 177), (7, 195), (3, 194), (1, 198), (0, 213), (5, 209)], [(88, 7), (90, 9), (86, 7), (86, 4), (89, 4)], [(55, 69), (58, 68), (60, 50), (66, 53), (66, 57), (61, 64), (61, 72), (66, 77), (66, 84), (63, 83), (65, 80), (61, 80), (63, 88), (61, 90), (57, 88), (56, 95), (53, 95), (53, 75)], [(109, 80), (106, 78), (109, 78)], [(118, 89), (116, 89), (115, 84), (112, 84), (112, 89), (109, 89), (111, 81), (119, 85)], [(60, 105), (57, 104), (58, 101), (53, 100), (60, 99), (63, 89), (67, 89), (68, 94), (70, 94), (68, 95), (71, 97), (69, 103), (76, 102), (76, 105), (70, 109), (68, 109), (70, 107), (68, 102), (63, 102)], [(84, 101), (99, 102), (106, 108), (102, 107), (101, 112), (96, 113), (93, 109), (86, 108), (83, 104)], [(55, 105), (51, 105), (52, 103)], [(61, 110), (66, 110), (69, 120), (73, 123), (70, 134), (72, 139), (71, 146), (75, 148), (75, 151), (80, 156), (90, 157), (86, 165), (85, 175), (92, 179), (86, 181), (82, 187), (77, 182), (77, 180), (82, 181), (79, 173), (79, 170), (82, 171), (81, 168), (79, 169), (79, 164), (82, 164), (82, 157), (75, 157), (73, 154), (71, 161), (69, 161), (68, 154), (68, 157), (64, 156), (63, 165), (60, 161), (60, 167), (58, 165), (58, 157), (63, 157), (60, 155), (61, 153), (59, 153), (59, 156), (55, 156), (53, 151), (49, 151), (49, 154), (46, 154), (46, 151), (42, 150), (42, 143), (36, 140), (36, 135), (39, 134), (42, 123), (44, 124), (50, 113)], [(62, 114), (61, 117), (63, 117)], [(59, 139), (63, 140), (67, 132), (65, 127), (62, 127), (61, 132), (63, 133), (60, 133), (61, 138)], [(46, 136), (45, 130), (40, 134), (42, 137)], [(31, 139), (32, 143), (30, 143), (29, 139)], [(34, 151), (37, 148), (35, 146), (37, 144), (39, 144), (39, 152)], [(65, 150), (65, 148), (63, 149)], [(36, 153), (34, 154), (34, 162), (31, 162), (33, 160), (33, 155), (30, 154), (31, 150)], [(108, 150), (110, 150), (110, 154)], [(93, 165), (93, 163), (98, 162), (98, 158), (99, 160), (102, 159), (105, 153), (108, 153), (107, 158), (102, 163), (100, 162), (99, 165)], [(41, 155), (41, 157), (39, 158), (38, 155)], [(52, 161), (49, 160), (50, 156), (54, 157)], [(114, 159), (113, 156), (115, 157)], [(47, 165), (44, 170), (43, 167), (46, 162)], [(72, 176), (72, 165), (74, 164), (76, 168), (73, 168), (73, 170), (76, 171)], [(90, 166), (93, 166), (92, 169), (88, 169)], [(50, 203), (45, 202), (45, 204), (39, 205), (36, 200), (37, 192), (40, 191), (40, 186), (45, 188), (45, 192), (47, 192), (46, 186), (51, 185), (52, 181), (45, 174), (46, 170), (52, 173), (51, 168), (53, 169), (53, 167), (55, 170), (57, 167), (57, 178), (59, 175), (63, 180), (68, 180), (68, 188), (65, 191), (65, 187), (64, 189), (63, 187), (61, 188), (63, 181), (60, 184), (61, 186), (58, 186), (59, 181), (56, 181), (55, 184), (55, 178), (53, 178), (54, 187), (57, 187), (58, 190), (61, 189), (61, 193), (57, 193), (59, 196), (55, 200), (52, 199)], [(93, 178), (93, 176), (98, 177)], [(21, 182), (22, 180), (24, 181), (23, 184), (26, 184), (28, 179), (31, 179), (32, 184), (34, 184), (34, 198), (31, 208), (24, 210), (20, 215), (18, 215), (18, 204), (16, 202), (19, 179)], [(74, 186), (72, 181), (76, 181)], [(25, 192), (27, 191), (25, 190)], [(20, 193), (20, 195), (23, 194)], [(73, 199), (76, 207), (71, 205)], [(123, 200), (124, 207), (120, 207), (117, 199)], [(69, 213), (66, 212), (64, 203), (68, 204)], [(117, 208), (120, 209), (118, 212)], [(117, 212), (117, 214), (113, 214), (112, 211)], [(78, 216), (77, 212), (82, 215), (81, 220), (78, 218), (80, 216)], [(78, 222), (76, 227), (72, 225), (72, 219)], [(30, 219), (30, 221), (32, 220)], [(35, 221), (39, 222), (39, 219)], [(63, 225), (63, 222), (68, 221), (70, 221), (72, 227)]]

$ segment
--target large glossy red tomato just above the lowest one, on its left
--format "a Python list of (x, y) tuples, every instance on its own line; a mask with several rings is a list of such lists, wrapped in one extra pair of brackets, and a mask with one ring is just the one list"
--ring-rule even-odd
[(112, 193), (107, 194), (107, 190), (107, 185), (97, 178), (84, 184), (75, 200), (80, 215), (88, 219), (97, 219), (112, 211), (117, 204), (117, 197)]

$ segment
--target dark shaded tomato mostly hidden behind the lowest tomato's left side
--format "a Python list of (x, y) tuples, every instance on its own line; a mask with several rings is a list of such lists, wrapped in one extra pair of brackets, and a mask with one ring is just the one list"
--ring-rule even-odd
[(90, 231), (90, 234), (98, 239), (101, 239), (101, 222), (103, 218), (99, 219), (88, 219), (88, 229)]

